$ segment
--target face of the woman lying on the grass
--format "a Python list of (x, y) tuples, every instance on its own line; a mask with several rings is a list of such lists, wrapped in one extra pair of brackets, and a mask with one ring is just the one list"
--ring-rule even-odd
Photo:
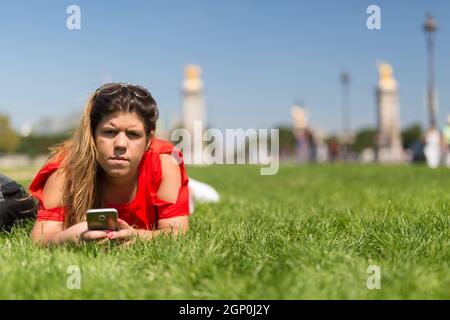
[(149, 144), (144, 122), (135, 112), (107, 115), (95, 130), (100, 166), (111, 178), (126, 178), (136, 174)]

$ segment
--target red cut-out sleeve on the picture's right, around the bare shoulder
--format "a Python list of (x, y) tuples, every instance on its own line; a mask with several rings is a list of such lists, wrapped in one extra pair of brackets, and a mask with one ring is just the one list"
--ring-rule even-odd
[[(154, 153), (152, 157), (152, 171), (154, 174), (153, 186), (150, 196), (152, 203), (156, 207), (156, 214), (158, 219), (174, 218), (179, 216), (189, 215), (189, 188), (188, 188), (188, 176), (186, 168), (184, 167), (182, 153), (174, 149), (172, 145), (167, 143), (165, 148), (161, 148), (160, 152)], [(160, 154), (176, 154), (179, 159), (180, 173), (181, 173), (181, 187), (178, 190), (178, 197), (175, 203), (164, 201), (157, 196), (159, 186), (161, 184), (162, 169)]]

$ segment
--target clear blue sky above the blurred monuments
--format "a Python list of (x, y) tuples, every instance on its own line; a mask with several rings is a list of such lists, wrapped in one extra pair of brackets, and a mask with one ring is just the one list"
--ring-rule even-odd
[[(81, 8), (68, 30), (66, 8)], [(366, 27), (368, 5), (381, 30)], [(301, 100), (313, 125), (341, 128), (339, 74), (352, 77), (352, 127), (375, 126), (377, 61), (393, 65), (402, 126), (425, 124), (421, 25), (439, 25), (439, 118), (450, 113), (448, 0), (14, 1), (0, 9), (0, 112), (19, 128), (79, 111), (102, 81), (139, 83), (163, 119), (181, 112), (183, 66), (203, 68), (208, 121), (217, 128), (290, 124)], [(179, 117), (179, 116), (178, 116)]]

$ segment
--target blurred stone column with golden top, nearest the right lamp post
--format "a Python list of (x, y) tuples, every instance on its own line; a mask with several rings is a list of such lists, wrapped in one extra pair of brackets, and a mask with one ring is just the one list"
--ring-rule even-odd
[(403, 161), (403, 148), (400, 135), (398, 86), (393, 78), (392, 66), (378, 65), (380, 79), (376, 90), (378, 106), (377, 153), (379, 162)]

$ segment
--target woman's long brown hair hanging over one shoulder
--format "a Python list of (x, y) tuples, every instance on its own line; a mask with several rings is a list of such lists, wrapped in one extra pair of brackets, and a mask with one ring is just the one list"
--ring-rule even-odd
[(61, 161), (65, 180), (62, 187), (64, 228), (85, 219), (86, 211), (102, 205), (101, 168), (95, 146), (95, 131), (103, 117), (115, 112), (136, 112), (144, 120), (149, 140), (156, 128), (159, 112), (150, 92), (140, 86), (106, 84), (90, 97), (80, 125), (73, 136), (52, 151), (49, 161)]

